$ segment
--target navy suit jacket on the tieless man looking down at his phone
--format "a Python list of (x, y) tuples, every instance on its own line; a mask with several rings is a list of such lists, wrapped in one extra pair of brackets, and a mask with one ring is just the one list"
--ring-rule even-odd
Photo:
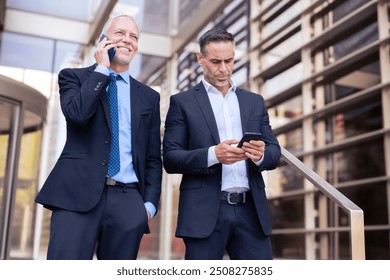
[[(274, 169), (280, 146), (269, 125), (261, 95), (236, 90), (243, 132), (261, 132), (266, 149), (257, 167), (247, 160), (249, 187), (261, 227), (271, 234), (271, 222), (261, 171)], [(181, 173), (178, 237), (205, 238), (215, 227), (221, 193), (222, 165), (207, 167), (210, 146), (220, 143), (217, 123), (203, 83), (173, 95), (165, 122), (163, 162), (168, 173)]]

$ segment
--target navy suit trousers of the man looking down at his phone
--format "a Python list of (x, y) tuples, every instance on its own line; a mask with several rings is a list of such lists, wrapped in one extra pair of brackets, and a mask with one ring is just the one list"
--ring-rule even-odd
[(186, 260), (220, 260), (225, 252), (232, 260), (272, 259), (270, 237), (263, 233), (252, 199), (233, 205), (221, 200), (213, 233), (183, 240)]

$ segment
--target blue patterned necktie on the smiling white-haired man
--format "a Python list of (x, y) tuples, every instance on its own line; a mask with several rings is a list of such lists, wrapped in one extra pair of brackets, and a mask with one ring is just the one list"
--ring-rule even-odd
[(107, 175), (112, 177), (117, 174), (120, 169), (119, 159), (119, 117), (118, 117), (118, 89), (116, 86), (116, 74), (111, 73), (111, 83), (108, 86), (108, 100), (110, 103), (111, 112), (111, 151), (110, 160), (108, 162)]

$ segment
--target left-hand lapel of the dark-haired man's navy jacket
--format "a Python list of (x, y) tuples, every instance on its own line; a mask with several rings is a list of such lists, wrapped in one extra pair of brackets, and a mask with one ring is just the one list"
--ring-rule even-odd
[(203, 86), (203, 83), (200, 82), (197, 86), (194, 87), (194, 96), (198, 101), (200, 110), (203, 113), (203, 117), (206, 120), (207, 126), (209, 127), (210, 133), (214, 138), (216, 144), (220, 142), (217, 122), (214, 117), (213, 108), (211, 107), (210, 99), (207, 96), (206, 89)]

